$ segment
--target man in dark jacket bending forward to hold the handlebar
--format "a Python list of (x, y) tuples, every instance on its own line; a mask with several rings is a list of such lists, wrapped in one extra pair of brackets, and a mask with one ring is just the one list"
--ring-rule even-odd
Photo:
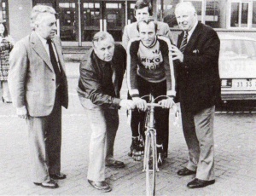
[(97, 32), (92, 45), (88, 61), (85, 58), (80, 64), (78, 88), (92, 130), (87, 178), (92, 187), (109, 192), (111, 187), (105, 182), (105, 166), (125, 166), (113, 159), (113, 143), (119, 127), (118, 109), (132, 109), (135, 104), (119, 98), (126, 66), (125, 49), (114, 44), (108, 32)]

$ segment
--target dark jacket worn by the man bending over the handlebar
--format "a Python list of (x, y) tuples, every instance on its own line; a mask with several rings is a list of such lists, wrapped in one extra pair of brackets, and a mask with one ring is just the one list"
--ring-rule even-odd
[[(86, 61), (88, 60), (88, 61)], [(109, 70), (109, 67), (113, 71)], [(80, 63), (78, 93), (83, 107), (119, 108), (120, 89), (126, 68), (126, 52), (122, 45), (115, 43), (113, 59), (100, 60), (92, 50), (90, 57)]]

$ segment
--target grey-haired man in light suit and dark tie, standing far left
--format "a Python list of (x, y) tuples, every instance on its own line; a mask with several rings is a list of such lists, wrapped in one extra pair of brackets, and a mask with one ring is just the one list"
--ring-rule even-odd
[(61, 106), (68, 105), (67, 77), (55, 24), (55, 9), (35, 6), (33, 31), (15, 44), (9, 69), (13, 104), (28, 126), (32, 182), (47, 188), (66, 178), (61, 174)]

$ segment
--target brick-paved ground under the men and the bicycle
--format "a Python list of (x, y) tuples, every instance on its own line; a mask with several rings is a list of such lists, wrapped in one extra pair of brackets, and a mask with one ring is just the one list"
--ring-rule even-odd
[[(125, 110), (119, 111), (120, 124), (114, 146), (116, 159), (125, 168), (107, 168), (107, 182), (113, 188), (101, 193), (90, 187), (86, 174), (89, 162), (90, 126), (76, 93), (79, 64), (67, 63), (69, 108), (62, 114), (61, 172), (67, 179), (59, 188), (47, 189), (33, 185), (30, 178), (29, 147), (26, 123), (17, 118), (11, 104), (0, 103), (0, 195), (145, 195), (143, 162), (127, 156), (131, 145), (131, 130)], [(121, 91), (125, 97), (127, 88)], [(169, 153), (156, 177), (156, 195), (256, 195), (256, 113), (218, 112), (214, 122), (215, 184), (189, 189), (186, 184), (194, 176), (177, 176), (186, 166), (187, 147), (181, 123), (173, 125), (170, 115)]]

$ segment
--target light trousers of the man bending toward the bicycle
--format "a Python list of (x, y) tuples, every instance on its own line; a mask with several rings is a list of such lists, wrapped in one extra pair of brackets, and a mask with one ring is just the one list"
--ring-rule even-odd
[(113, 146), (119, 127), (118, 109), (86, 107), (88, 99), (79, 97), (90, 122), (89, 166), (90, 181), (105, 181), (105, 162), (113, 159)]

